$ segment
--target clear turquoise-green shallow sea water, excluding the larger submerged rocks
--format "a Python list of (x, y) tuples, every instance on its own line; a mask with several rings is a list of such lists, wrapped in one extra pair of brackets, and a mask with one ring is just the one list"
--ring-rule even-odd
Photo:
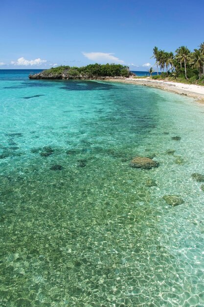
[(19, 75), (0, 77), (0, 307), (204, 306), (203, 106)]

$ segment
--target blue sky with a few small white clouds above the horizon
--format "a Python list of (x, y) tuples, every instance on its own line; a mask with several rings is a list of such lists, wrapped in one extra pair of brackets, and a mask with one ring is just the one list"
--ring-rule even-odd
[(154, 66), (153, 48), (204, 41), (204, 0), (0, 0), (0, 69)]

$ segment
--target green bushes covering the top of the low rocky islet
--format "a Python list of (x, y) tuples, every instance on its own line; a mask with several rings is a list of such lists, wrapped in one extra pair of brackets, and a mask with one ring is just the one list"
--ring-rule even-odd
[(72, 77), (129, 77), (131, 72), (128, 66), (120, 64), (90, 64), (84, 67), (59, 66), (43, 72), (45, 75), (66, 74)]

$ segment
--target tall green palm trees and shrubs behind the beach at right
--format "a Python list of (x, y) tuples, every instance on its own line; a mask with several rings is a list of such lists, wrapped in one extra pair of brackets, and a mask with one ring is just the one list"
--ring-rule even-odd
[[(199, 49), (191, 52), (187, 47), (181, 46), (176, 51), (165, 52), (157, 47), (153, 49), (156, 60), (157, 72), (160, 67), (161, 75), (153, 76), (153, 79), (164, 79), (204, 85), (204, 43)], [(164, 71), (166, 71), (164, 73)]]

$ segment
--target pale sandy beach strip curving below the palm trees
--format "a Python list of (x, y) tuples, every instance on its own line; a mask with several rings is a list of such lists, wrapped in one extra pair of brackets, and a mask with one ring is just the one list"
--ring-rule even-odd
[(147, 78), (126, 78), (121, 80), (110, 80), (119, 81), (124, 83), (132, 83), (137, 85), (145, 85), (160, 88), (165, 91), (173, 92), (180, 95), (185, 95), (197, 99), (198, 102), (204, 103), (204, 86), (195, 84), (185, 84), (172, 81), (164, 80), (153, 80), (150, 77)]

